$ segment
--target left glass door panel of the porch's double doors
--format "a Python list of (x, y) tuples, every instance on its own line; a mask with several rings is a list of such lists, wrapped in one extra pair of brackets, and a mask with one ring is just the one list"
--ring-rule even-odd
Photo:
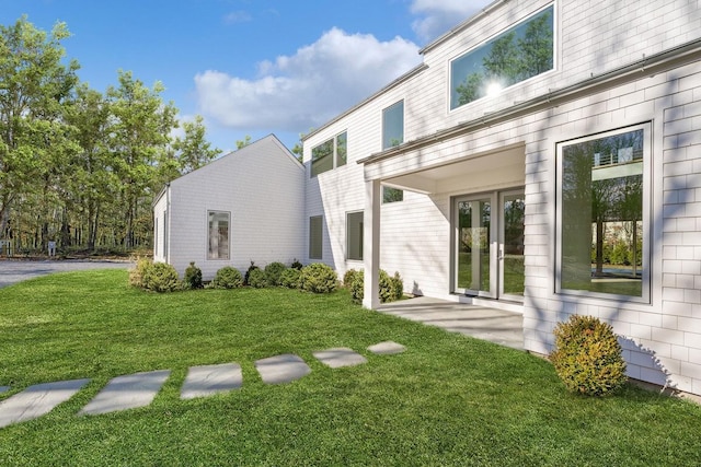
[(459, 200), (457, 211), (456, 289), (491, 295), (491, 199)]

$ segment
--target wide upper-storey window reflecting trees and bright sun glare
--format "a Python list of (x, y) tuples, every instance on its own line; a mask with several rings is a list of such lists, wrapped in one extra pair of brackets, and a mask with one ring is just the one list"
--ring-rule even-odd
[(553, 7), (450, 63), (450, 108), (553, 68)]

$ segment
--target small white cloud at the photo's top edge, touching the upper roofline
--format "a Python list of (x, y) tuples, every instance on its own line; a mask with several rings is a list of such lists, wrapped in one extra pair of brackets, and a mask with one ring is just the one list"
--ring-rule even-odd
[(429, 42), (450, 31), (492, 3), (493, 0), (413, 0), (411, 12), (417, 16), (414, 33)]

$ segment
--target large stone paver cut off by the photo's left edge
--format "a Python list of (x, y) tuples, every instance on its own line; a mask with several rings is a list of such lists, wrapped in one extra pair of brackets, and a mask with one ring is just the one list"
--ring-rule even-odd
[(50, 412), (73, 397), (90, 380), (71, 380), (30, 386), (0, 402), (0, 428)]

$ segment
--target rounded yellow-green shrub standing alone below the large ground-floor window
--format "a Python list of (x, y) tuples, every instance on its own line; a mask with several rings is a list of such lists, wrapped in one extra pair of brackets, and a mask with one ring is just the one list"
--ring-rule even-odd
[(554, 330), (555, 350), (550, 361), (567, 389), (604, 396), (621, 388), (625, 361), (610, 325), (593, 316), (574, 315)]

